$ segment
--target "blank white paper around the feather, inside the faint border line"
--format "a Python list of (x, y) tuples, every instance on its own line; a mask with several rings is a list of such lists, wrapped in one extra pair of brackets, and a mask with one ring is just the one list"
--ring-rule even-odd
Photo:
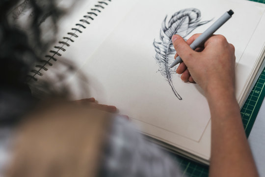
[[(141, 1), (82, 67), (82, 72), (88, 76), (91, 95), (101, 102), (116, 105), (122, 113), (132, 118), (165, 129), (176, 136), (199, 141), (210, 119), (207, 101), (197, 85), (183, 83), (177, 75), (173, 83), (183, 100), (174, 96), (157, 72), (152, 44), (166, 14), (171, 16), (178, 10), (196, 7), (202, 12), (202, 20), (209, 20), (218, 18), (231, 8), (238, 15), (233, 16), (218, 33), (226, 35), (229, 42), (235, 44), (237, 58), (240, 58), (257, 26), (258, 20), (255, 19), (259, 12), (256, 8), (237, 2)], [(205, 7), (205, 4), (211, 8)], [(245, 23), (237, 23), (241, 18), (249, 19), (248, 28)], [(231, 34), (230, 29), (235, 28), (235, 24), (238, 29), (235, 33), (244, 36), (241, 41), (238, 41), (238, 36)], [(203, 31), (210, 25), (199, 27), (194, 32)], [(86, 39), (82, 41), (85, 43)], [(80, 52), (81, 56), (88, 55), (86, 51)], [(73, 54), (80, 56), (79, 52)]]

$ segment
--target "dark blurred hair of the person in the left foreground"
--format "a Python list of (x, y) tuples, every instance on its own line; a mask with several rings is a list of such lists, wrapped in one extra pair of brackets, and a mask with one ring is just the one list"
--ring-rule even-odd
[[(65, 10), (58, 8), (55, 2), (0, 0), (0, 124), (17, 122), (36, 101), (27, 86), (28, 73), (56, 39), (56, 24)], [(19, 23), (23, 16), (26, 20)], [(48, 18), (54, 36), (47, 40), (42, 38), (41, 24)], [(72, 64), (63, 64), (73, 71)], [(63, 78), (64, 74), (59, 73), (57, 77)], [(69, 93), (64, 86), (52, 89), (51, 81), (38, 84), (47, 95), (66, 97)]]

